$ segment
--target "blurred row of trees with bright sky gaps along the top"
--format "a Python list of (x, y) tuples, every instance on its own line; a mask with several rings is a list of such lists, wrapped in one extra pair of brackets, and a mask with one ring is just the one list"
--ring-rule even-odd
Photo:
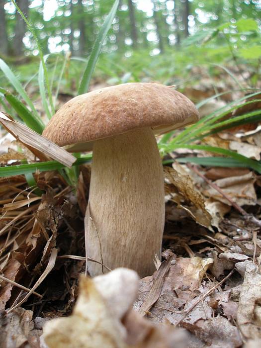
[[(36, 29), (44, 53), (87, 56), (112, 0), (16, 0)], [(199, 31), (253, 18), (261, 27), (260, 0), (121, 0), (103, 51), (153, 55)], [(0, 0), (0, 56), (38, 55), (25, 23), (10, 1)], [(244, 41), (244, 37), (241, 37)], [(233, 40), (232, 40), (233, 41)]]

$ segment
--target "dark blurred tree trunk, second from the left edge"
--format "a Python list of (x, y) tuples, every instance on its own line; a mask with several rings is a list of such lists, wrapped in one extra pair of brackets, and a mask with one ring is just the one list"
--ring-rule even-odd
[[(29, 6), (29, 0), (16, 0), (17, 5), (19, 6), (20, 10), (23, 12), (25, 17), (28, 16), (28, 6)], [(23, 48), (23, 37), (26, 31), (26, 24), (24, 20), (22, 19), (21, 15), (16, 11), (15, 13), (15, 36), (13, 39), (13, 52), (15, 56), (21, 56), (22, 55), (22, 48)]]

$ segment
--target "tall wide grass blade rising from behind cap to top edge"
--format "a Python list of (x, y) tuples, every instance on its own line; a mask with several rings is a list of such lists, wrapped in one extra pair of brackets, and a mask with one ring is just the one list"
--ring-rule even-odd
[(78, 89), (78, 94), (83, 94), (83, 93), (86, 93), (88, 91), (91, 75), (92, 75), (92, 72), (94, 70), (97, 59), (99, 57), (102, 43), (103, 43), (103, 41), (104, 41), (108, 31), (109, 31), (111, 23), (115, 17), (118, 5), (119, 5), (119, 0), (116, 0), (113, 4), (109, 14), (105, 18), (104, 23), (103, 23), (103, 25), (102, 25), (102, 27), (97, 35), (97, 38), (95, 40), (94, 46), (92, 48), (92, 51), (91, 51), (89, 59), (88, 59), (88, 63), (87, 63), (87, 67), (86, 67), (84, 75), (83, 75), (83, 79), (82, 79), (80, 87)]

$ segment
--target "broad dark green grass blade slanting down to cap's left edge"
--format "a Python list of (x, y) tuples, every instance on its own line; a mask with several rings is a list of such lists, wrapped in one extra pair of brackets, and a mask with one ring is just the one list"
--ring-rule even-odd
[(13, 107), (17, 115), (23, 120), (23, 122), (35, 132), (42, 134), (44, 130), (44, 124), (34, 117), (33, 113), (27, 109), (27, 107), (14, 95), (9, 93), (3, 88), (0, 88), (0, 92), (4, 93), (5, 99)]

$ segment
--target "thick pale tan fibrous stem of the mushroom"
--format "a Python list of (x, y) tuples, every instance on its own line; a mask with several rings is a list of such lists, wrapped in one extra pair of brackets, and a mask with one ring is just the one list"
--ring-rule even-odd
[[(165, 221), (164, 177), (151, 128), (95, 141), (85, 217), (87, 257), (128, 267), (141, 277), (155, 270)], [(91, 276), (106, 269), (88, 262)]]

